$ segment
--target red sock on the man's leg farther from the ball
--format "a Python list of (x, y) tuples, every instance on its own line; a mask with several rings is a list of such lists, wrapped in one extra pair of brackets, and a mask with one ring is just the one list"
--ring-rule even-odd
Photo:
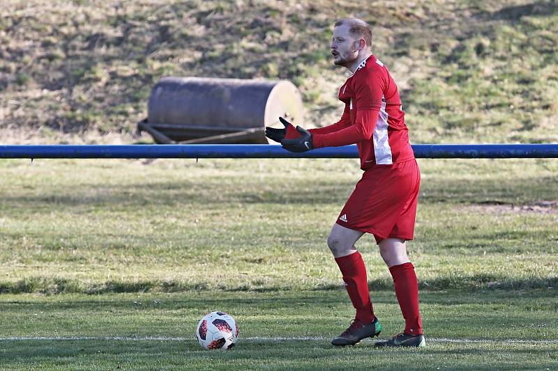
[(423, 333), (423, 320), (418, 310), (418, 283), (412, 263), (394, 265), (389, 269), (395, 286), (395, 296), (405, 318), (405, 333)]

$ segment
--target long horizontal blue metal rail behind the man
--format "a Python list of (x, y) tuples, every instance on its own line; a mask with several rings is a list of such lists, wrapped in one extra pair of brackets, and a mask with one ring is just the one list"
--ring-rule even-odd
[[(415, 144), (417, 158), (558, 158), (558, 144)], [(0, 159), (357, 158), (356, 145), (292, 153), (280, 145), (0, 145)]]

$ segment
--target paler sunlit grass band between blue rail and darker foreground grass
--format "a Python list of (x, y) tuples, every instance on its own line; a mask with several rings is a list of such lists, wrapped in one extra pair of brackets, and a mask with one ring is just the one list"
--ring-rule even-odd
[[(356, 161), (5, 164), (0, 292), (282, 290), (339, 283), (325, 240), (358, 178)], [(422, 164), (416, 242), (409, 244), (422, 265), (421, 287), (554, 285), (557, 263), (544, 257), (556, 249), (556, 205), (531, 211), (525, 205), (555, 200), (556, 161)], [(537, 168), (536, 176), (525, 166)], [(319, 176), (309, 177), (308, 168)], [(389, 288), (372, 241), (360, 244), (370, 260), (371, 285)], [(68, 271), (60, 271), (61, 262)], [(207, 281), (200, 269), (217, 279)], [(303, 278), (293, 280), (293, 269)]]

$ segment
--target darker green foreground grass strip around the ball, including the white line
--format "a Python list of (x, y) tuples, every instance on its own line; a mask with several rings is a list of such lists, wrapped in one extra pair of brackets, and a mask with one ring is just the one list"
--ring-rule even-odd
[[(402, 320), (393, 293), (372, 292), (372, 297), (386, 332), (382, 338), (399, 331)], [(558, 365), (558, 344), (544, 342), (558, 336), (558, 303), (544, 290), (476, 292), (466, 297), (455, 291), (425, 292), (421, 299), (432, 339), (428, 348), (379, 350), (373, 349), (369, 340), (346, 349), (329, 345), (330, 338), (352, 315), (346, 294), (340, 290), (4, 295), (0, 325), (6, 336), (90, 338), (0, 340), (0, 357), (10, 370), (107, 370), (118, 366), (126, 370), (285, 370), (351, 365), (400, 369), (402, 364), (416, 369), (488, 370), (505, 366), (544, 370)], [(241, 338), (230, 352), (204, 352), (194, 339), (199, 318), (215, 308), (227, 308), (240, 324)], [(454, 340), (475, 341), (446, 342), (449, 335)], [(117, 336), (128, 340), (110, 338)], [(130, 340), (134, 337), (159, 339)]]

